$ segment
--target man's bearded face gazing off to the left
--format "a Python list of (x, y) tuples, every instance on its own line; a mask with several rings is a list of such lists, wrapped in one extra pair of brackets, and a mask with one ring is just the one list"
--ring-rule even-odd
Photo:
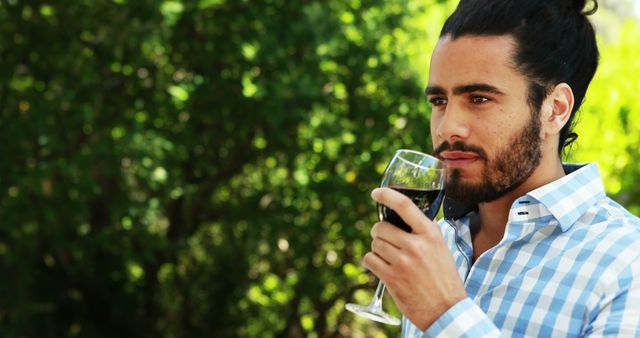
[(539, 112), (528, 105), (514, 52), (508, 36), (445, 37), (434, 50), (426, 90), (431, 135), (447, 164), (447, 195), (456, 200), (495, 200), (540, 164)]

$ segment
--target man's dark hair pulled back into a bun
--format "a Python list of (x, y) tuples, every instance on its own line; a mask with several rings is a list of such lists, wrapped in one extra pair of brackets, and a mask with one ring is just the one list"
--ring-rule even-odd
[(461, 0), (440, 37), (511, 35), (517, 43), (516, 67), (529, 79), (529, 105), (539, 111), (553, 87), (567, 83), (575, 98), (560, 131), (558, 154), (578, 137), (576, 112), (598, 67), (598, 46), (585, 10), (586, 0)]

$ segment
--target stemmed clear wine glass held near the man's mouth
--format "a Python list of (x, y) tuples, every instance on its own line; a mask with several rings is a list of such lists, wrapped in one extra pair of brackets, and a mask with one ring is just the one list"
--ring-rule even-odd
[[(422, 212), (434, 219), (444, 197), (444, 163), (437, 158), (415, 150), (397, 150), (384, 171), (381, 187), (389, 187), (409, 197)], [(411, 227), (393, 209), (378, 203), (378, 217), (411, 232)], [(369, 305), (349, 303), (347, 310), (377, 322), (400, 325), (400, 319), (382, 309), (384, 283), (378, 287)]]

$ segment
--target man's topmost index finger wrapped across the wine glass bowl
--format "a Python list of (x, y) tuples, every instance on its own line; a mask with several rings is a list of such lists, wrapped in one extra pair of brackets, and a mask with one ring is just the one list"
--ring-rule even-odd
[(393, 209), (411, 227), (412, 233), (420, 234), (428, 231), (431, 221), (411, 199), (402, 193), (389, 188), (377, 188), (371, 192), (371, 198)]

